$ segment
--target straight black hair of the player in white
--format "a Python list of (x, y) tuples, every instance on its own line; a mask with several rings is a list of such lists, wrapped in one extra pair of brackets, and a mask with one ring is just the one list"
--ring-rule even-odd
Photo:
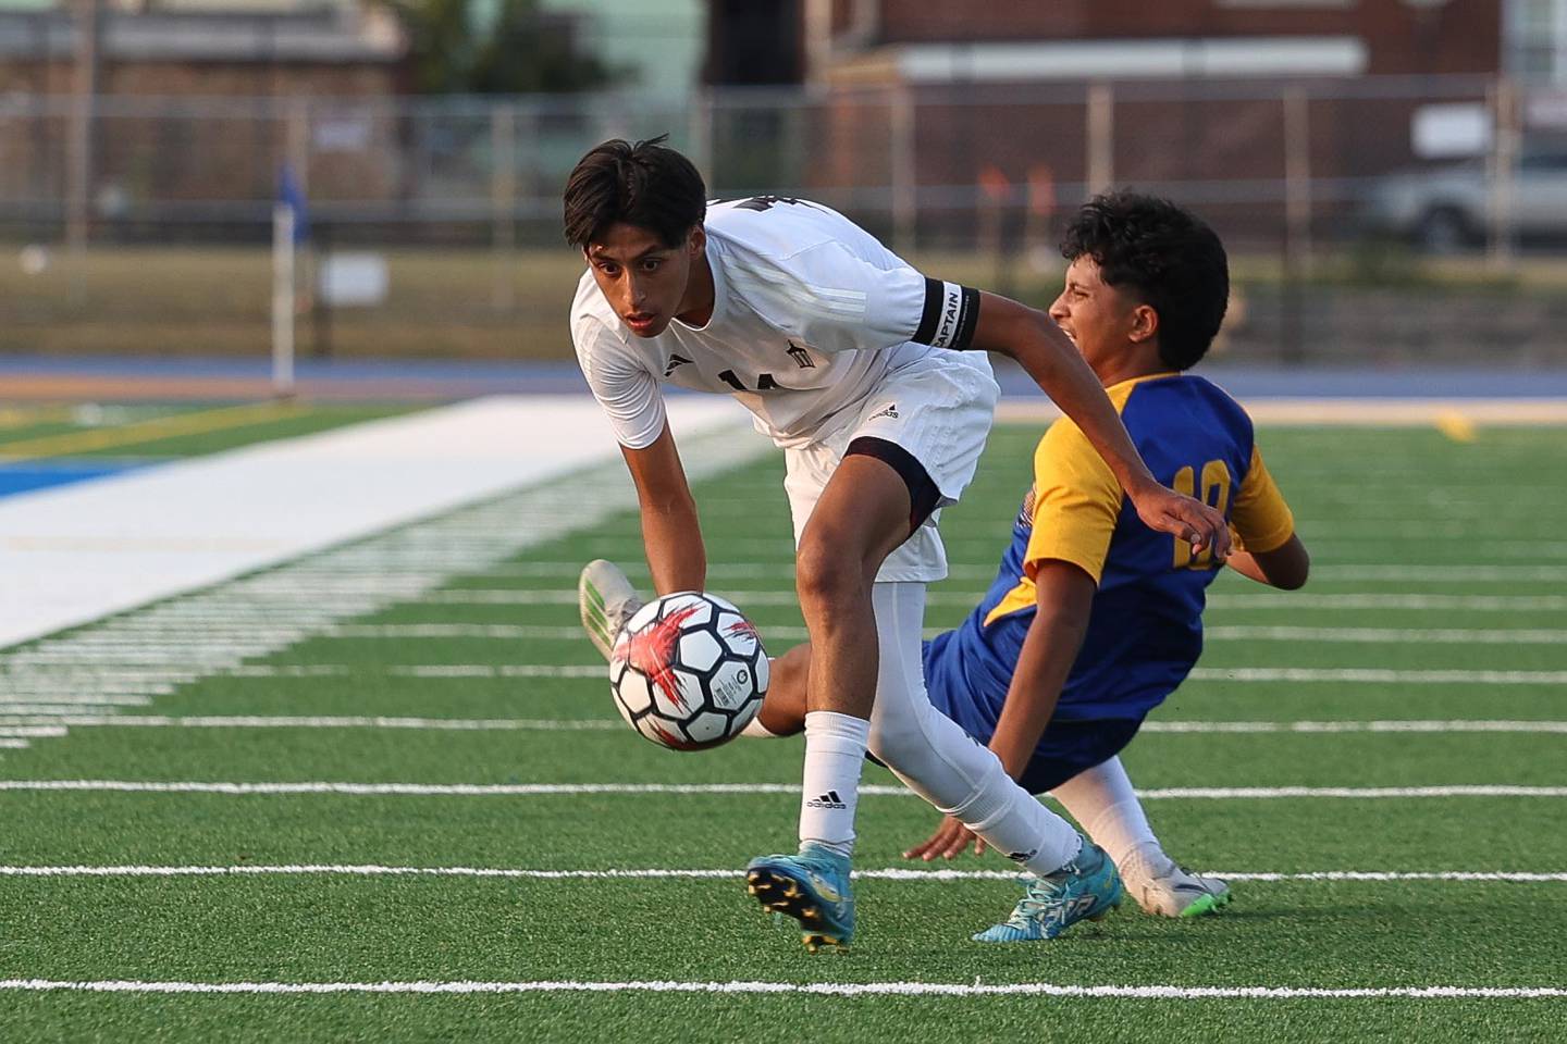
[(679, 246), (707, 214), (707, 186), (669, 135), (632, 144), (613, 138), (594, 147), (566, 182), (566, 241), (586, 247), (616, 222), (647, 229)]

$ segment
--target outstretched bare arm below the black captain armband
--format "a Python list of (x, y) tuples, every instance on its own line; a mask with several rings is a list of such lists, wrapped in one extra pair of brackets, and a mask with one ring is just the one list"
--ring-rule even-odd
[(1194, 553), (1211, 546), (1214, 557), (1224, 560), (1230, 553), (1224, 515), (1166, 488), (1149, 473), (1098, 377), (1061, 327), (1037, 308), (990, 293), (981, 291), (976, 307), (978, 319), (968, 347), (1017, 360), (1061, 412), (1083, 429), (1149, 527), (1189, 542)]

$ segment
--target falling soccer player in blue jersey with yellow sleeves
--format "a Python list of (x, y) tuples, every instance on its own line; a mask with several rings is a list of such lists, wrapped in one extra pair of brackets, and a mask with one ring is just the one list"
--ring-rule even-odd
[[(1232, 568), (1301, 587), (1310, 560), (1250, 418), (1186, 373), (1224, 319), (1219, 238), (1174, 203), (1113, 194), (1083, 207), (1062, 254), (1070, 265), (1050, 316), (1105, 383), (1155, 477), (1227, 515), (1238, 537)], [(1164, 855), (1117, 754), (1197, 662), (1219, 568), (1138, 521), (1083, 432), (1059, 419), (1034, 451), (1033, 488), (990, 590), (962, 626), (925, 643), (932, 704), (1028, 790), (1056, 797), (1116, 861), (1127, 892), (1169, 917), (1216, 909), (1229, 887)], [(804, 645), (774, 662), (766, 731), (799, 731), (809, 661)], [(951, 858), (970, 844), (984, 848), (946, 819), (906, 855)], [(990, 933), (1028, 936), (1037, 908), (1025, 898)], [(1030, 938), (1040, 934), (1050, 938)]]

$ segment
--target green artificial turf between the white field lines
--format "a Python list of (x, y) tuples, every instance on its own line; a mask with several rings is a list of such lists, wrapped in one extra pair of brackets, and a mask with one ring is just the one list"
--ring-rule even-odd
[[(970, 496), (951, 509), (954, 579), (929, 621), (962, 618), (1026, 485), (1037, 432), (1003, 427)], [(1545, 596), (1504, 579), (1357, 579), (1335, 567), (1526, 567), (1550, 562), (1562, 495), (1558, 430), (1268, 430), (1263, 446), (1332, 579), (1307, 593)], [(699, 484), (716, 590), (787, 592), (790, 531), (765, 460)], [(1439, 537), (1423, 538), (1424, 527)], [(1387, 537), (1398, 529), (1406, 537)], [(1514, 542), (1514, 543), (1509, 543)], [(1542, 546), (1542, 556), (1495, 553)], [(594, 553), (635, 557), (635, 517), (537, 545), (448, 592), (567, 592)], [(755, 567), (755, 574), (726, 568)], [(724, 579), (718, 579), (724, 578)], [(1232, 596), (1214, 626), (1562, 629), (1561, 610), (1252, 609)], [(747, 609), (799, 626), (790, 606)], [(559, 599), (458, 606), (431, 598), (357, 625), (574, 628)], [(169, 640), (190, 640), (171, 635)], [(218, 640), (213, 637), (212, 640)], [(773, 640), (774, 651), (788, 640)], [(420, 715), (613, 720), (600, 679), (418, 679), (398, 664), (591, 664), (584, 642), (317, 637), (260, 665), (340, 665), (332, 678), (208, 678), (160, 697), (169, 715)], [(1567, 670), (1561, 643), (1211, 642), (1203, 667)], [(136, 712), (135, 709), (128, 712)], [(1156, 720), (1567, 718), (1559, 686), (1189, 681)], [(1567, 784), (1561, 734), (1164, 734), (1127, 751), (1139, 786)], [(793, 783), (799, 740), (671, 754), (625, 729), (370, 731), (74, 728), (6, 751), (17, 779), (404, 783)], [(890, 775), (867, 770), (867, 781)], [(1194, 867), (1233, 872), (1567, 870), (1562, 798), (1158, 800), (1149, 814)], [(385, 864), (738, 870), (793, 837), (777, 795), (201, 795), (0, 792), (11, 866)], [(934, 814), (867, 795), (857, 864), (899, 851)], [(995, 856), (959, 869), (1004, 870)], [(736, 878), (480, 880), (328, 875), (3, 878), (0, 978), (160, 981), (572, 980), (1028, 983), (1203, 986), (1564, 986), (1562, 883), (1243, 881), (1221, 917), (1167, 922), (1130, 905), (1047, 947), (990, 949), (968, 933), (1001, 917), (1006, 881), (862, 881), (854, 953), (807, 956), (751, 908)], [(465, 997), (149, 997), (0, 992), (6, 1039), (641, 1039), (862, 1041), (1551, 1041), (1562, 1000), (1111, 1000), (552, 994)]]

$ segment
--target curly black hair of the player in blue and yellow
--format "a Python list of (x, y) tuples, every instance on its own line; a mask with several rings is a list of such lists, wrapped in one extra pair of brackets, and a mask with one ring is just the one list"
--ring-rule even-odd
[(1092, 258), (1105, 283), (1158, 313), (1166, 366), (1189, 369), (1208, 352), (1230, 301), (1230, 265), (1189, 210), (1138, 193), (1095, 196), (1067, 225), (1061, 254)]

